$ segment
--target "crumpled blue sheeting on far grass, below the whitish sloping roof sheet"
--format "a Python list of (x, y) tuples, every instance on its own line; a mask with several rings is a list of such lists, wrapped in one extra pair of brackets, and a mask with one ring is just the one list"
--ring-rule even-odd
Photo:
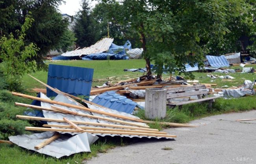
[(109, 56), (110, 60), (127, 60), (129, 57), (126, 55), (125, 49), (122, 49), (118, 53), (96, 53), (82, 57), (82, 60), (107, 60)]

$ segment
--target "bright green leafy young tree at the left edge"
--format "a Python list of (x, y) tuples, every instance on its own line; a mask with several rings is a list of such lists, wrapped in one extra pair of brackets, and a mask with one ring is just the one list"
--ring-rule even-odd
[(1, 69), (4, 71), (9, 89), (19, 88), (22, 75), (35, 71), (36, 62), (31, 58), (37, 55), (39, 48), (34, 43), (25, 44), (25, 33), (32, 22), (33, 18), (27, 15), (21, 31), (16, 30), (15, 34), (11, 33), (9, 36), (4, 35), (0, 38)]

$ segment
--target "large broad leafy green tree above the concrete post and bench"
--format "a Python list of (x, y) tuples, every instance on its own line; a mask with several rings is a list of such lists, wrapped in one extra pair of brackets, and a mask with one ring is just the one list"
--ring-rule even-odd
[(163, 71), (193, 77), (185, 71), (185, 64), (203, 66), (210, 36), (224, 38), (227, 19), (236, 19), (241, 11), (229, 4), (243, 4), (242, 0), (102, 2), (108, 8), (109, 17), (121, 26), (122, 33), (142, 40), (147, 75), (151, 74), (150, 61), (154, 61), (158, 77)]

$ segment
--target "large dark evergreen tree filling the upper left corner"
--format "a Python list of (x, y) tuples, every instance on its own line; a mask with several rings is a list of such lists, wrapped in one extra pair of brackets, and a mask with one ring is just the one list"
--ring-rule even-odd
[(26, 31), (25, 45), (35, 43), (39, 47), (37, 55), (29, 60), (37, 62), (38, 69), (46, 68), (43, 56), (56, 49), (69, 24), (58, 13), (63, 0), (0, 0), (0, 30), (2, 35), (20, 30), (26, 15), (31, 12), (34, 19), (31, 28)]

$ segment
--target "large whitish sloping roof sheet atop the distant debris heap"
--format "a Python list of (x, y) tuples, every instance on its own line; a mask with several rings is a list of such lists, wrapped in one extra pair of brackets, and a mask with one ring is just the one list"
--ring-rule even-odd
[(61, 56), (81, 56), (81, 55), (89, 55), (93, 53), (102, 53), (102, 52), (108, 51), (113, 40), (114, 40), (113, 38), (103, 38), (90, 47), (85, 47), (83, 49), (78, 49), (74, 51), (68, 51), (66, 53), (63, 53)]

